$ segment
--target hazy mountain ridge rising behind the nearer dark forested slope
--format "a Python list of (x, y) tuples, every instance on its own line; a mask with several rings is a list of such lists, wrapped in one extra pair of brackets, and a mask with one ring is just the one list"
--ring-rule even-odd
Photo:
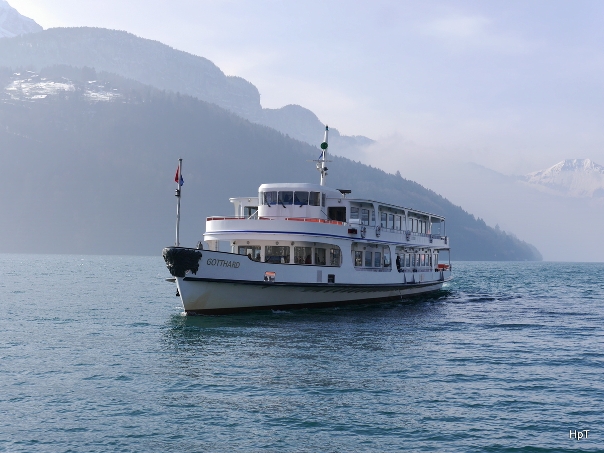
[[(323, 137), (323, 123), (308, 109), (297, 105), (263, 109), (260, 92), (247, 80), (226, 76), (204, 57), (126, 31), (50, 28), (0, 39), (0, 62), (35, 72), (53, 65), (87, 66), (214, 103), (252, 123), (272, 127), (309, 144), (316, 144)], [(337, 127), (330, 127), (330, 132), (332, 144), (342, 153), (372, 142), (367, 137), (342, 136)]]

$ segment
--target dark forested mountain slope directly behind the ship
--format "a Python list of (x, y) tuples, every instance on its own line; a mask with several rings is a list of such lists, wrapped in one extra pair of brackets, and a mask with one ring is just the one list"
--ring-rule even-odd
[[(4, 68), (0, 82), (14, 88), (0, 95), (1, 252), (157, 254), (173, 240), (178, 158), (188, 246), (229, 198), (318, 180), (318, 147), (198, 98), (68, 66)], [(446, 216), (454, 259), (541, 259), (416, 182), (338, 156), (330, 169), (332, 187)]]

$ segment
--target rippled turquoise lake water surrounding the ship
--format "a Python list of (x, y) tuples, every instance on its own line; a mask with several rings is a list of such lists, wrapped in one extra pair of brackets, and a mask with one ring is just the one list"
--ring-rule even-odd
[(454, 272), (187, 317), (161, 257), (0, 255), (0, 451), (603, 451), (604, 264)]

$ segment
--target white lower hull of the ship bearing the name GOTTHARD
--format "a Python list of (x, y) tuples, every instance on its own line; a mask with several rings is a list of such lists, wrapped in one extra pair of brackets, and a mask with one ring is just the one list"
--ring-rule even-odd
[[(437, 291), (451, 280), (450, 269), (438, 272), (394, 269), (379, 272), (382, 283), (375, 283), (377, 272), (259, 263), (245, 255), (207, 250), (198, 253), (202, 255), (198, 271), (175, 277), (187, 314), (223, 315), (247, 310), (291, 310), (401, 300)], [(274, 272), (275, 281), (264, 281), (266, 272)], [(326, 283), (332, 272), (335, 282)]]

